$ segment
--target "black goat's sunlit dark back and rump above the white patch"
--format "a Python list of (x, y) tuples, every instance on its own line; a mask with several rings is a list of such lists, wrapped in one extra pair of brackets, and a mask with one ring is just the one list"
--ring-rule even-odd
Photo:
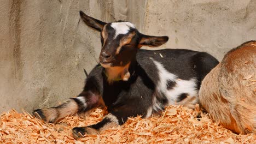
[(137, 53), (137, 61), (146, 71), (150, 78), (155, 79), (152, 61), (161, 63), (169, 72), (179, 77), (179, 79), (189, 80), (196, 77), (200, 82), (203, 77), (216, 67), (219, 63), (216, 58), (206, 52), (198, 52), (187, 49), (164, 49), (164, 50), (139, 50)]

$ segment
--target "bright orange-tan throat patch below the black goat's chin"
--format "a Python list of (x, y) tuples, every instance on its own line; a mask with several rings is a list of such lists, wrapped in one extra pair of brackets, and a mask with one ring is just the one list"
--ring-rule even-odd
[[(127, 73), (130, 66), (130, 62), (126, 64), (124, 67), (109, 67), (106, 68), (106, 75), (108, 76), (108, 82), (112, 83), (115, 79), (122, 79), (124, 78), (125, 74)], [(129, 73), (129, 71), (128, 71)]]

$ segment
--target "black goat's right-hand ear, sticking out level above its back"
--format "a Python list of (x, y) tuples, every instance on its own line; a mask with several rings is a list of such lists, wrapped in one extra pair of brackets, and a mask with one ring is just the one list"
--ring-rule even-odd
[(150, 47), (157, 47), (162, 44), (165, 44), (168, 41), (167, 36), (162, 37), (156, 37), (156, 36), (150, 36), (150, 35), (144, 35), (142, 34), (142, 39), (139, 41), (139, 47), (144, 46), (150, 46)]

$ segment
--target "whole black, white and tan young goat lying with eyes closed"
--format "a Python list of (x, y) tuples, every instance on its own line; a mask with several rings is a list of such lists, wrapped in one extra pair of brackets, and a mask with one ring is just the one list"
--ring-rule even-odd
[(54, 123), (67, 115), (106, 105), (109, 114), (101, 122), (73, 128), (75, 139), (124, 124), (128, 117), (149, 117), (167, 105), (194, 105), (203, 77), (218, 64), (216, 58), (205, 52), (139, 50), (144, 45), (165, 44), (168, 37), (144, 35), (130, 22), (105, 23), (83, 11), (80, 16), (86, 25), (101, 33), (100, 64), (92, 69), (78, 97), (33, 112), (45, 122)]

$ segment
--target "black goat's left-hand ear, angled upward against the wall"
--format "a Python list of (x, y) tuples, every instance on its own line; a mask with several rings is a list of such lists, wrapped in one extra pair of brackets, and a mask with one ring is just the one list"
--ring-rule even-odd
[(102, 31), (104, 25), (106, 25), (106, 22), (96, 20), (93, 17), (86, 15), (83, 11), (80, 11), (80, 16), (86, 25), (95, 28), (97, 31)]

